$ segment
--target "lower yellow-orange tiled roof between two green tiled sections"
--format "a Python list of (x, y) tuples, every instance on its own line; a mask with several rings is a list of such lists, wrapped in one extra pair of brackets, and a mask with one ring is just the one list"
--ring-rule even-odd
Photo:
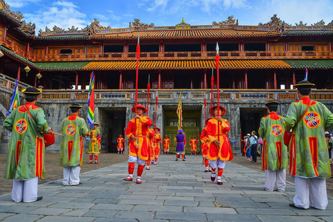
[[(212, 69), (214, 60), (152, 60), (139, 61), (139, 69)], [(220, 60), (221, 69), (290, 69), (282, 60)], [(136, 69), (136, 61), (89, 62), (86, 70)]]

